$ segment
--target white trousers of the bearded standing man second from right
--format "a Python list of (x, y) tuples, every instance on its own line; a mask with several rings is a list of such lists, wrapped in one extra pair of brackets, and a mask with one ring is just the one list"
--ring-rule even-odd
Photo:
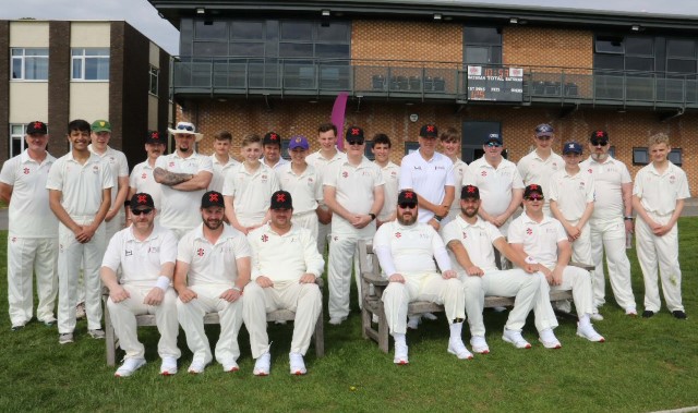
[(623, 217), (610, 221), (590, 220), (591, 259), (595, 267), (592, 276), (593, 305), (600, 307), (605, 303), (605, 277), (603, 271), (603, 253), (606, 253), (609, 281), (615, 301), (624, 309), (635, 309), (635, 295), (630, 279), (630, 262), (625, 251), (625, 223)]

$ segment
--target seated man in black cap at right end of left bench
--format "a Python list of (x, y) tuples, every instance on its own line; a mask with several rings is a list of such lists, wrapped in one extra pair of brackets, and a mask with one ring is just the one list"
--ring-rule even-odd
[(291, 194), (277, 191), (272, 195), (272, 220), (248, 234), (252, 247), (252, 279), (245, 290), (263, 300), (244, 301), (244, 323), (250, 331), (252, 356), (256, 359), (254, 375), (269, 374), (269, 337), (266, 313), (279, 308), (296, 313), (293, 338), (289, 353), (290, 372), (306, 373), (303, 356), (310, 347), (317, 316), (323, 307), (315, 283), (325, 269), (317, 252), (317, 241), (308, 228), (291, 223)]

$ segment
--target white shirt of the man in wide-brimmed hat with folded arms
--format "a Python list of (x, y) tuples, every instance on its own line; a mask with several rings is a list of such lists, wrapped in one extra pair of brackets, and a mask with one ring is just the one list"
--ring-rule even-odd
[[(174, 173), (198, 172), (213, 173), (210, 158), (197, 153), (188, 158), (181, 158), (177, 151), (170, 155), (163, 155), (155, 162), (156, 168)], [(201, 197), (206, 190), (179, 191), (168, 185), (160, 185), (163, 190), (163, 210), (160, 211), (160, 223), (167, 228), (190, 229), (201, 223)]]

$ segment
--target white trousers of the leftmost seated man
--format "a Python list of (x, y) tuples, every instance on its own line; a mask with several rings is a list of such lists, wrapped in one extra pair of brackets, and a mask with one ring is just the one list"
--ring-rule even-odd
[(170, 287), (165, 291), (160, 305), (143, 304), (145, 296), (154, 288), (123, 284), (124, 290), (131, 295), (124, 301), (115, 303), (111, 297), (107, 300), (109, 316), (113, 330), (119, 338), (119, 347), (127, 353), (127, 359), (144, 359), (145, 348), (139, 341), (135, 316), (154, 314), (157, 330), (160, 332), (160, 341), (157, 343), (157, 353), (163, 357), (179, 359), (181, 352), (177, 348), (179, 323), (177, 320), (177, 293)]

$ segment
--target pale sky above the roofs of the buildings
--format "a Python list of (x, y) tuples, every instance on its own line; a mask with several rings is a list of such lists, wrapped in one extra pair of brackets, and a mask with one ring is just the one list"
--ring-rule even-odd
[[(0, 20), (125, 20), (170, 54), (179, 52), (179, 32), (147, 0), (0, 0)], [(698, 17), (698, 0), (453, 0), (462, 3), (573, 8)], [(581, 4), (580, 4), (581, 3)]]

